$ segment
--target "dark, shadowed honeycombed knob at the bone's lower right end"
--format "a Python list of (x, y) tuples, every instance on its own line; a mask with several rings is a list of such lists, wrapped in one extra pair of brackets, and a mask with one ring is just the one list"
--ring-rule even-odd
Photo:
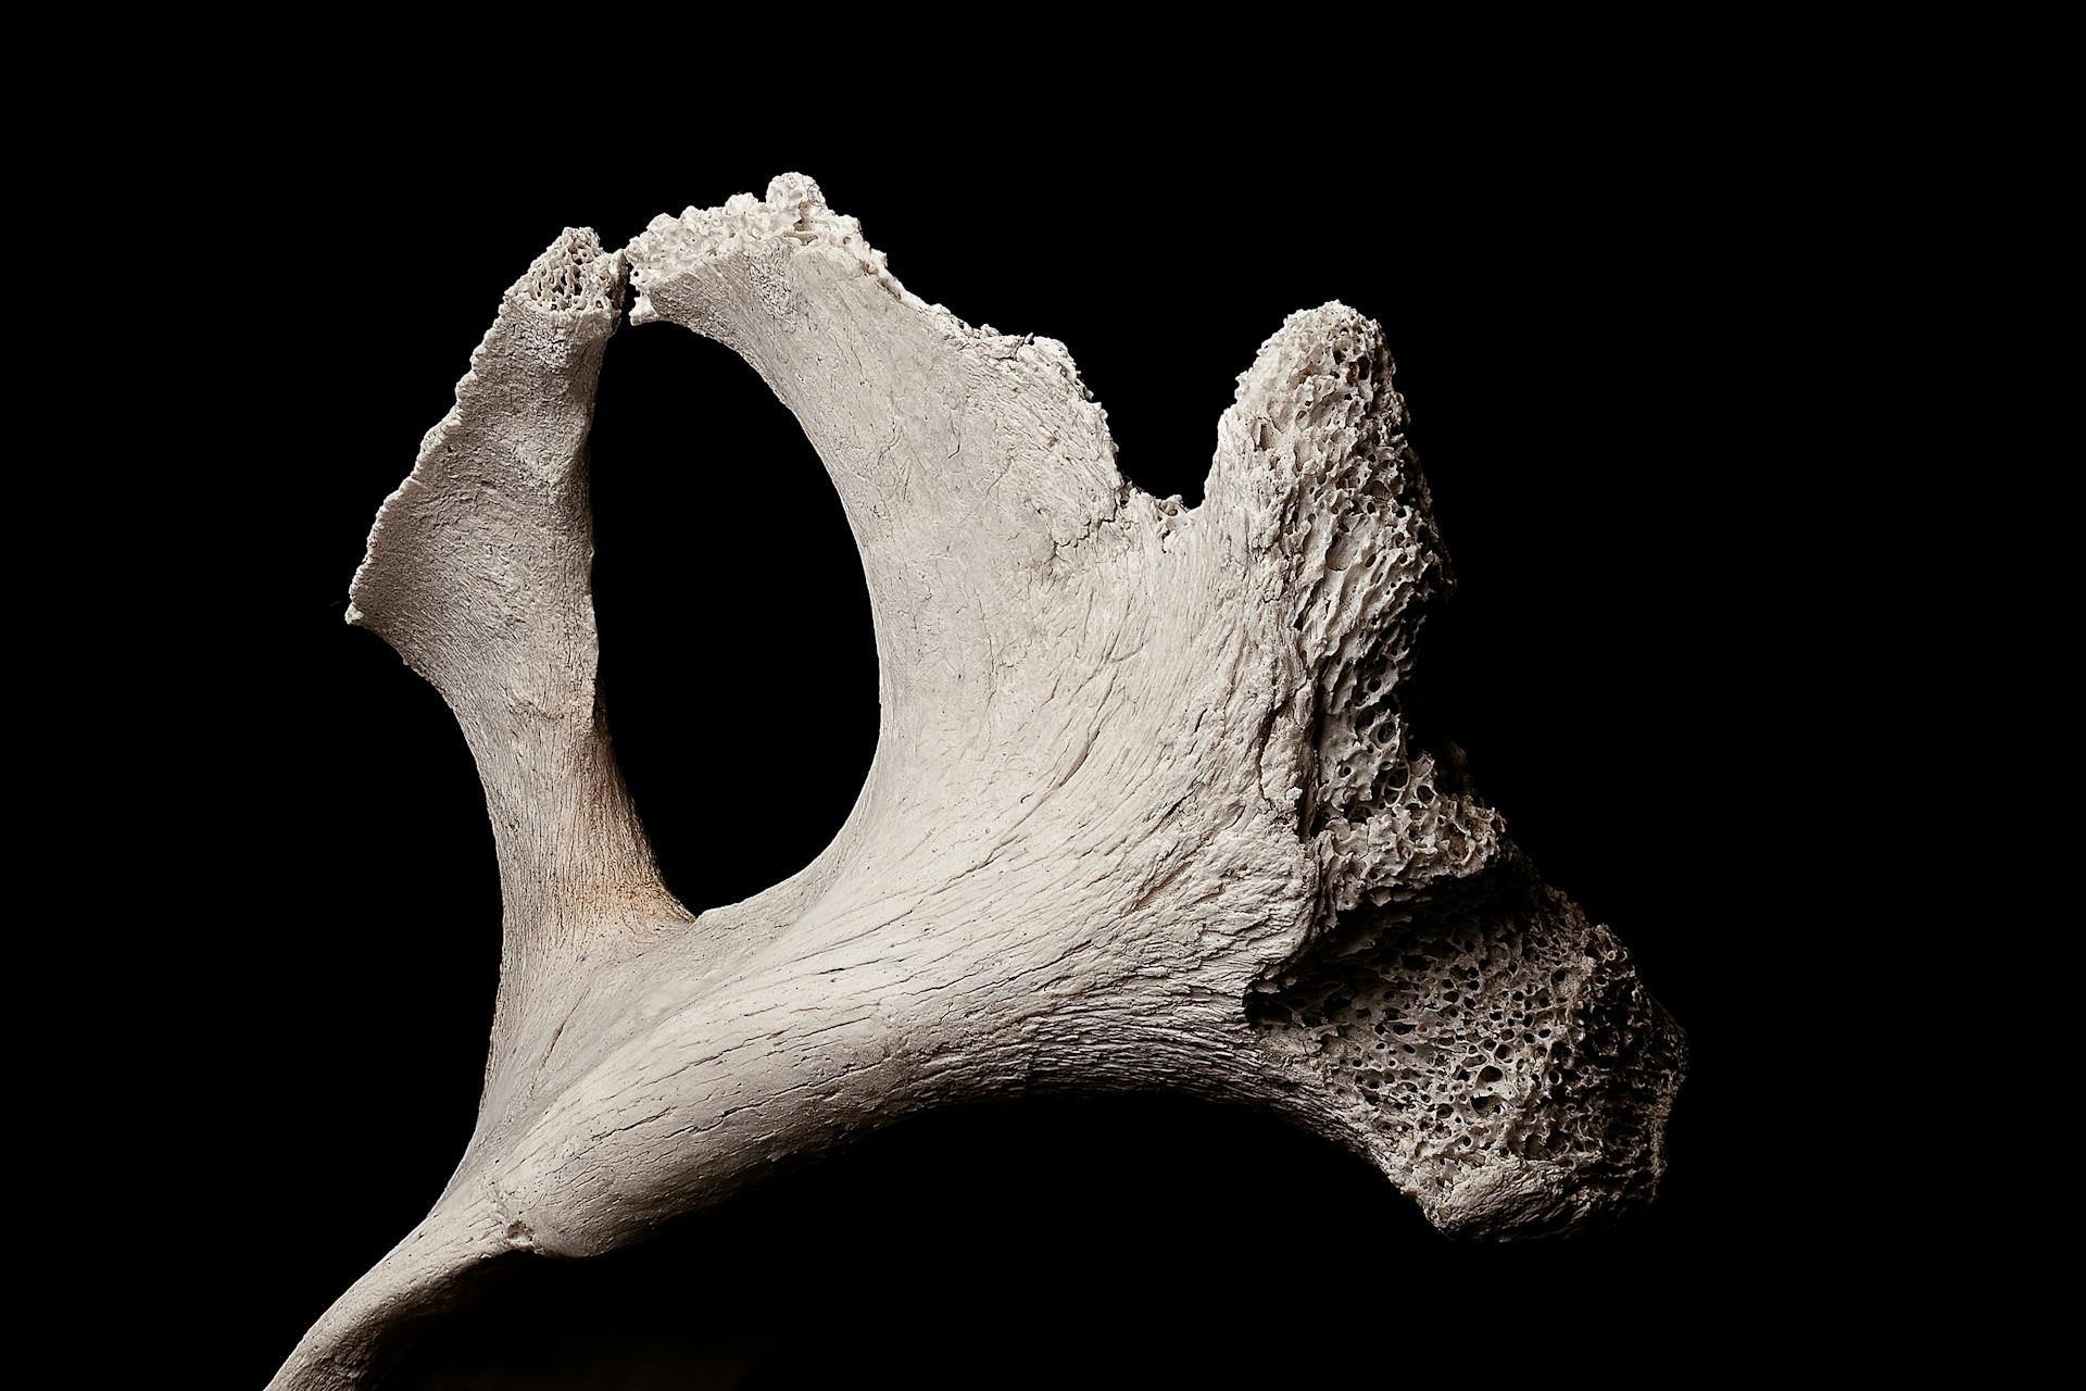
[(1623, 945), (1514, 853), (1343, 916), (1250, 1014), (1444, 1230), (1550, 1235), (1648, 1199), (1685, 1049)]

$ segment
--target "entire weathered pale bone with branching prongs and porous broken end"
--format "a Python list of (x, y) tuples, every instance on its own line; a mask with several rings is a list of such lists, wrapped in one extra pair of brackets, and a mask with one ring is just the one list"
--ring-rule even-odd
[[(595, 694), (584, 457), (626, 294), (791, 407), (876, 621), (847, 824), (701, 916)], [(348, 609), (442, 692), (486, 788), (478, 1128), (273, 1385), (363, 1385), (488, 1258), (607, 1251), (778, 1160), (1024, 1091), (1272, 1109), (1450, 1233), (1652, 1195), (1679, 1030), (1400, 713), (1448, 574), (1379, 327), (1335, 302), (1262, 344), (1202, 507), (1114, 453), (1062, 344), (922, 302), (801, 175), (622, 252), (567, 229), (515, 282)]]

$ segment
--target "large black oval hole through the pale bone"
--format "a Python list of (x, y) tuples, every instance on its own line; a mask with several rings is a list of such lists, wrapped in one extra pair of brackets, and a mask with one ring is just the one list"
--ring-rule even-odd
[(609, 340), (588, 453), (615, 757), (668, 888), (736, 903), (826, 849), (870, 772), (855, 538), (789, 407), (676, 325)]

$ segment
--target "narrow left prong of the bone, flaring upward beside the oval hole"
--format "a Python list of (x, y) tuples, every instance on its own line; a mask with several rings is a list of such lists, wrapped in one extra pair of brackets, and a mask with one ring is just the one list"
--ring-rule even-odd
[(348, 621), (442, 692), (486, 786), (509, 936), (496, 1039), (526, 951), (678, 916), (595, 686), (586, 434), (622, 296), (622, 254), (586, 227), (530, 263), (348, 586)]

